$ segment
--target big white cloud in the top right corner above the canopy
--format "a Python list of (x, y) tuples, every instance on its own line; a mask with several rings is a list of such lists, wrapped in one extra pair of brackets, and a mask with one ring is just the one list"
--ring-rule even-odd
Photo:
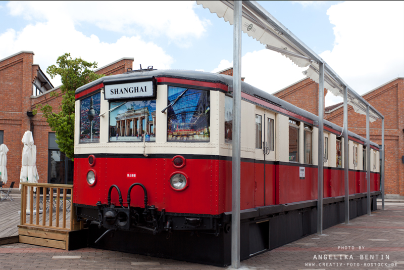
[(403, 11), (403, 1), (331, 6), (334, 48), (320, 56), (361, 95), (404, 76)]

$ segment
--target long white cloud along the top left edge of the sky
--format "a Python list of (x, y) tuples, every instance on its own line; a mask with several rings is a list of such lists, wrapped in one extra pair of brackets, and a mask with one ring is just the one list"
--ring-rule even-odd
[(190, 37), (199, 38), (210, 24), (194, 12), (191, 1), (109, 1), (99, 2), (10, 2), (10, 13), (26, 20), (90, 23), (100, 29), (156, 37), (165, 35), (181, 47), (190, 45)]

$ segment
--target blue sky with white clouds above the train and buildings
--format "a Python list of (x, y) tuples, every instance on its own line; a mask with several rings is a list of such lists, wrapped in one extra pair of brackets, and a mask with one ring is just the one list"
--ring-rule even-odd
[[(404, 1), (258, 3), (357, 93), (404, 77)], [(0, 60), (20, 51), (34, 52), (44, 72), (64, 53), (98, 67), (131, 57), (133, 69), (218, 72), (232, 66), (233, 27), (195, 1), (0, 2)], [(241, 65), (268, 93), (305, 78), (306, 68), (246, 34)], [(326, 106), (341, 101), (326, 95)]]

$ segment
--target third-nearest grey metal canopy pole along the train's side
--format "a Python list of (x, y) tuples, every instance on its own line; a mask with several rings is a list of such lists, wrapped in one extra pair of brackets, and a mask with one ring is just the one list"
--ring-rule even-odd
[(349, 224), (349, 147), (348, 147), (348, 87), (344, 86), (344, 183), (345, 183), (345, 223)]

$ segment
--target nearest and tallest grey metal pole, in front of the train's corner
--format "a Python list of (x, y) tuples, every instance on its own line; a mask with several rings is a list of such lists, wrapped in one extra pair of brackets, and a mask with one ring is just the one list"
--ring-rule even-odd
[(240, 267), (241, 162), (241, 1), (234, 1), (233, 30), (233, 154), (231, 178), (231, 266)]

